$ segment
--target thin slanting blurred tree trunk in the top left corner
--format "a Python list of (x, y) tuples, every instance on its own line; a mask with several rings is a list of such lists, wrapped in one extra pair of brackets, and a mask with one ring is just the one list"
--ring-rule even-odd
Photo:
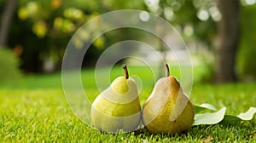
[(0, 48), (6, 46), (9, 37), (9, 26), (15, 13), (17, 0), (8, 0), (3, 10), (0, 26)]

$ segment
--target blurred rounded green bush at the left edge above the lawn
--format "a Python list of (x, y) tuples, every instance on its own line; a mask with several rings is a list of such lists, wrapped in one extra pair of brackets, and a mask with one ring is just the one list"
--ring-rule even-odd
[(0, 47), (0, 82), (21, 77), (19, 58), (7, 48)]

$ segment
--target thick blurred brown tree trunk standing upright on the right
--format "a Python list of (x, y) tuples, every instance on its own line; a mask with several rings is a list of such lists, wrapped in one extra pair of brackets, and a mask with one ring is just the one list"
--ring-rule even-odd
[(239, 0), (218, 0), (222, 19), (218, 22), (216, 81), (236, 81), (235, 61), (239, 40)]

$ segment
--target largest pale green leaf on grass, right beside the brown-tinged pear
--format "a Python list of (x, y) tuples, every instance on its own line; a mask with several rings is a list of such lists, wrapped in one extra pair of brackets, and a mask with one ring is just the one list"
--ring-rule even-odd
[(200, 124), (216, 124), (224, 119), (224, 114), (226, 112), (226, 107), (221, 108), (218, 112), (207, 112), (203, 114), (195, 114), (195, 121), (193, 125)]

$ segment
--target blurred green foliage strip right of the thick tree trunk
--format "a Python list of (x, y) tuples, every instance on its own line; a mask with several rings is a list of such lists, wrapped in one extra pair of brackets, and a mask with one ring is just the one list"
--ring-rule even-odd
[(241, 41), (237, 54), (237, 72), (241, 81), (256, 79), (255, 11), (255, 4), (241, 8)]

